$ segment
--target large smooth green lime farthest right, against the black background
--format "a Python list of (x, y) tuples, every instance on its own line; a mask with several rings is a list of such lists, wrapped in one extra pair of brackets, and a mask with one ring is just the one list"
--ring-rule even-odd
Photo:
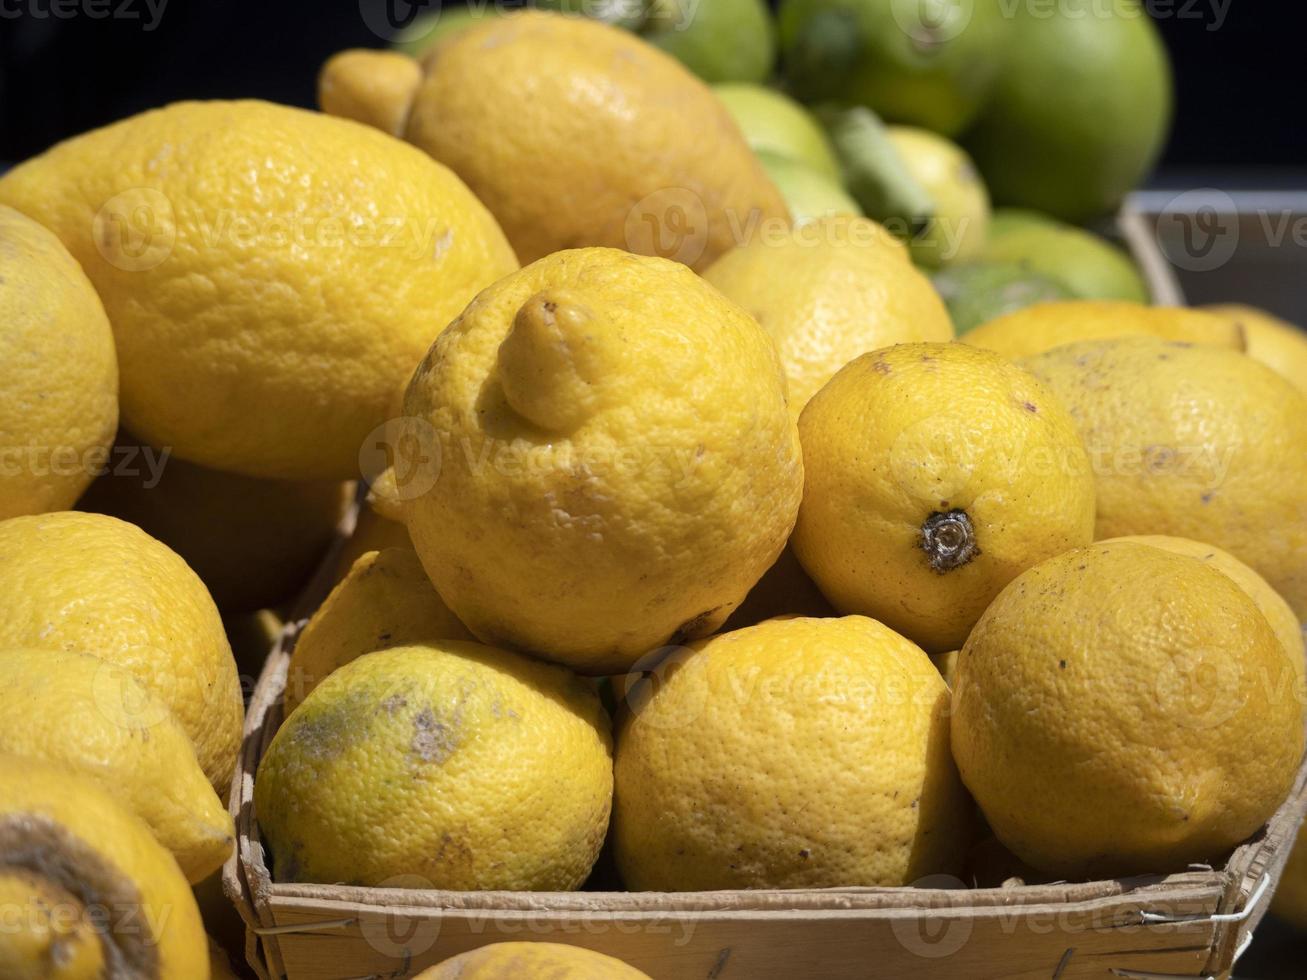
[(1171, 69), (1136, 0), (1017, 4), (1014, 43), (967, 148), (995, 200), (1085, 221), (1151, 169), (1171, 119)]

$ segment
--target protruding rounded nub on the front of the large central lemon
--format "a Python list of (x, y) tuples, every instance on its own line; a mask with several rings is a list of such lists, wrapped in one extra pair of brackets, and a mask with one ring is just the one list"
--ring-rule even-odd
[(536, 293), (499, 345), (499, 384), (514, 412), (549, 431), (567, 431), (597, 404), (606, 362), (593, 314), (567, 290)]

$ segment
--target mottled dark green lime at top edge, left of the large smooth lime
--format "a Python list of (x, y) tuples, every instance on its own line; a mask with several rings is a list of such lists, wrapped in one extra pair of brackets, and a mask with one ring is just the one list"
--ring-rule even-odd
[(867, 106), (953, 136), (976, 116), (1006, 55), (1000, 0), (780, 0), (789, 89)]

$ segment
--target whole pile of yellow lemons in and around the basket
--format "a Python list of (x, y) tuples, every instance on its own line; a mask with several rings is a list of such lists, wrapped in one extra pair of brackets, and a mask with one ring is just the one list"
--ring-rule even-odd
[(248, 614), (359, 478), (257, 766), (280, 881), (1163, 873), (1285, 800), (1307, 337), (1061, 299), (958, 341), (919, 250), (796, 220), (591, 21), (324, 103), (372, 125), (179, 103), (0, 179), (0, 972), (210, 968)]

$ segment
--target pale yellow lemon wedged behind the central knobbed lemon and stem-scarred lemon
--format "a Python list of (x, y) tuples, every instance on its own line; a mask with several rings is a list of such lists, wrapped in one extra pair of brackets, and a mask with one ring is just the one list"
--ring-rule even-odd
[(825, 218), (779, 240), (755, 239), (718, 259), (703, 277), (776, 341), (796, 417), (859, 354), (953, 340), (931, 281), (867, 218)]

